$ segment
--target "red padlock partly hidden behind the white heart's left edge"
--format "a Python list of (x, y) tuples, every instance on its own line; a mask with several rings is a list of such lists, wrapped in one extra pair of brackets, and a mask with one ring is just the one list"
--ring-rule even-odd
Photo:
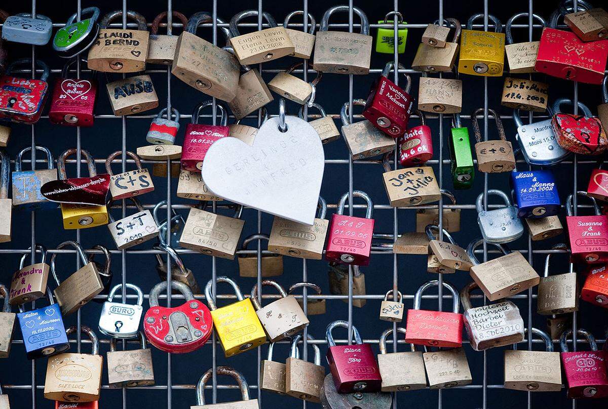
[(183, 170), (200, 172), (202, 160), (205, 159), (209, 146), (229, 134), (228, 111), (220, 103), (216, 105), (222, 114), (219, 122), (221, 125), (199, 125), (198, 117), (201, 115), (201, 109), (212, 105), (212, 100), (201, 102), (192, 112), (192, 122), (186, 126), (182, 147), (181, 167)]

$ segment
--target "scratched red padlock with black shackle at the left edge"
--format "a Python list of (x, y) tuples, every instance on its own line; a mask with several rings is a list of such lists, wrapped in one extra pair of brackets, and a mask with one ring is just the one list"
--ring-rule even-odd
[[(2, 33), (6, 28), (5, 25)], [(32, 58), (13, 61), (6, 67), (6, 74), (0, 76), (0, 119), (33, 124), (40, 119), (49, 96), (49, 83), (46, 80), (50, 70), (44, 61), (36, 60), (36, 68), (42, 70), (40, 80), (13, 77), (11, 72), (19, 65), (31, 67)]]

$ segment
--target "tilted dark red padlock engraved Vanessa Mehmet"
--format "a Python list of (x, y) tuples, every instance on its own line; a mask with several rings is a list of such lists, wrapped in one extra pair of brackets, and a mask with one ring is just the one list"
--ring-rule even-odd
[[(407, 122), (412, 114), (413, 98), (409, 94), (412, 78), (406, 74), (405, 89), (389, 80), (387, 77), (394, 64), (393, 61), (387, 63), (380, 78), (372, 84), (363, 116), (385, 134), (398, 138), (406, 133)], [(399, 64), (399, 69), (405, 67)]]

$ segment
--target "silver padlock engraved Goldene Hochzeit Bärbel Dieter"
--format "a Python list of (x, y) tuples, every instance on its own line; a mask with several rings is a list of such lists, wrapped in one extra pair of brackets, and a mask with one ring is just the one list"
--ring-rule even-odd
[(460, 290), (460, 301), (465, 311), (465, 329), (471, 348), (484, 351), (522, 342), (525, 328), (519, 308), (508, 300), (474, 308), (471, 304), (471, 291), (478, 287), (475, 281), (471, 281)]

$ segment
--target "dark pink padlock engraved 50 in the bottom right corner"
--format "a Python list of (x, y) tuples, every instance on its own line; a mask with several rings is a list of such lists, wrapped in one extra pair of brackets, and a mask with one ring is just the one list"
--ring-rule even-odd
[(576, 330), (589, 343), (590, 351), (569, 352), (567, 345), (568, 335), (572, 329), (564, 331), (559, 337), (561, 346), (562, 367), (564, 368), (565, 387), (567, 396), (571, 399), (579, 397), (606, 397), (608, 396), (608, 374), (606, 369), (606, 351), (598, 351), (595, 337), (586, 329)]

